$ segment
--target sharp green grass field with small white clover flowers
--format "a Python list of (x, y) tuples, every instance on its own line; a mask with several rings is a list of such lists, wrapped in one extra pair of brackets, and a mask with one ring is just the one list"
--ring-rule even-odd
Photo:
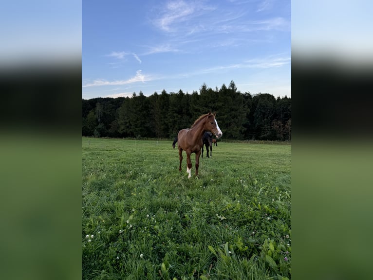
[(82, 279), (291, 279), (291, 145), (82, 138)]

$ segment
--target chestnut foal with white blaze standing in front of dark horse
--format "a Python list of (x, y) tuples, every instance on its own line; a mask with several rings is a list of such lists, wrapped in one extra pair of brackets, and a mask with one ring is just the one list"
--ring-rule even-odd
[(202, 136), (205, 131), (211, 131), (217, 138), (223, 135), (220, 130), (218, 122), (215, 119), (215, 114), (208, 113), (199, 117), (194, 121), (191, 128), (185, 128), (179, 131), (177, 138), (172, 143), (172, 147), (175, 148), (176, 142), (179, 148), (179, 171), (181, 171), (181, 162), (183, 161), (183, 150), (186, 152), (186, 164), (188, 178), (191, 177), (192, 161), (190, 155), (196, 154), (196, 176), (198, 175), (198, 167), (200, 165), (201, 148), (203, 145)]

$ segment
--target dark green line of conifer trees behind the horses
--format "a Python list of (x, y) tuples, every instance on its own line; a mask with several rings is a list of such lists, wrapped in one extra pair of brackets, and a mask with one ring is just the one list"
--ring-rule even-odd
[(291, 140), (291, 98), (241, 93), (233, 80), (220, 89), (204, 83), (192, 94), (82, 99), (82, 136), (173, 139), (208, 112), (217, 113), (225, 139)]

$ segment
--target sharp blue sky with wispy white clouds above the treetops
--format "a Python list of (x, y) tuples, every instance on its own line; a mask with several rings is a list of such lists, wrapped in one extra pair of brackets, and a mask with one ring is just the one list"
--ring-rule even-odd
[(82, 1), (82, 98), (231, 80), (291, 97), (290, 0)]

